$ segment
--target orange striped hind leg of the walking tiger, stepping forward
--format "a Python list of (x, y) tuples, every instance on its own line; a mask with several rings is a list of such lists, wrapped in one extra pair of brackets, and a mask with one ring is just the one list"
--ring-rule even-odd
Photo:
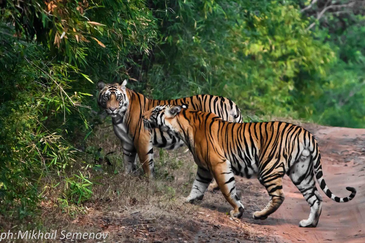
[[(277, 177), (273, 179), (273, 177)], [(262, 177), (261, 177), (262, 178)], [(268, 177), (268, 179), (263, 180), (263, 184), (266, 190), (271, 196), (271, 200), (266, 205), (264, 209), (261, 211), (256, 211), (253, 213), (254, 219), (266, 219), (270, 214), (275, 212), (280, 205), (283, 203), (285, 199), (284, 191), (283, 191), (283, 177), (280, 174), (274, 174)]]

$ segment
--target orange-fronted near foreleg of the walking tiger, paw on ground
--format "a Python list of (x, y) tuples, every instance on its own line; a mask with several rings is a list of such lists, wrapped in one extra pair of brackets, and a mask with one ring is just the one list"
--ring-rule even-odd
[(234, 208), (230, 211), (231, 217), (241, 218), (243, 212), (245, 212), (245, 207), (241, 203), (236, 192), (236, 181), (231, 169), (231, 163), (228, 160), (215, 163), (213, 173), (224, 198), (226, 198), (228, 203)]

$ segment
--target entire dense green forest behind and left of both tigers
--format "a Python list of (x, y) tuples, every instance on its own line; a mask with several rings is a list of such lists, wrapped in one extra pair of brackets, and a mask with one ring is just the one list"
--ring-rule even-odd
[(127, 78), (160, 99), (223, 95), (248, 116), (365, 128), (364, 6), (0, 0), (1, 215), (32, 215), (60, 182), (67, 205), (92, 195), (82, 146), (102, 122), (92, 112), (100, 79)]

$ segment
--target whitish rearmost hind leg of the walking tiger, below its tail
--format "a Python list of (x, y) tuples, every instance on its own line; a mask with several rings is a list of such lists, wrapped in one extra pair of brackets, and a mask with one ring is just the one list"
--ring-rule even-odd
[[(307, 155), (307, 153), (304, 154)], [(303, 156), (302, 153), (301, 158), (293, 164), (288, 172), (290, 179), (311, 207), (308, 219), (301, 220), (299, 227), (316, 227), (322, 211), (322, 196), (315, 185), (313, 162), (311, 159), (311, 156)]]

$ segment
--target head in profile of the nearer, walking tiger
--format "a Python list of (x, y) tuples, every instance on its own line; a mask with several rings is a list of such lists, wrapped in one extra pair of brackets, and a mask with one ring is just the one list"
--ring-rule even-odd
[(163, 132), (179, 132), (177, 126), (174, 126), (174, 124), (177, 120), (176, 115), (180, 113), (182, 108), (187, 108), (187, 105), (156, 106), (142, 114), (143, 125), (147, 130), (159, 128)]

